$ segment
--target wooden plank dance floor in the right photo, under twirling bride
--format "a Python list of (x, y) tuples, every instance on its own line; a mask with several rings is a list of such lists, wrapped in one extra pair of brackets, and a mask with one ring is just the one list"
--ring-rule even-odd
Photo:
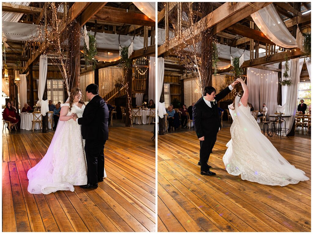
[[(217, 137), (210, 165), (216, 176), (200, 175), (194, 131), (158, 136), (158, 231), (311, 230), (311, 181), (266, 186), (227, 173), (223, 164), (229, 127)], [(311, 178), (311, 140), (269, 139)]]

